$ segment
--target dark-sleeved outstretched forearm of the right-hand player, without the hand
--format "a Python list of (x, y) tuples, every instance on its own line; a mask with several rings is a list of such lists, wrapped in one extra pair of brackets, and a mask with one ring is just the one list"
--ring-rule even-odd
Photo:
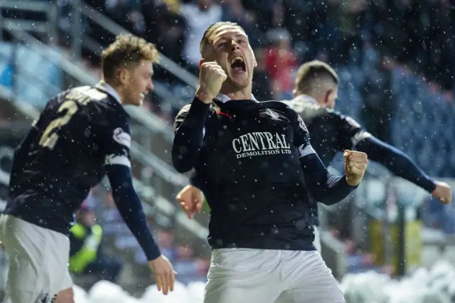
[(368, 154), (369, 159), (384, 165), (393, 174), (411, 181), (430, 193), (436, 188), (434, 181), (419, 169), (407, 154), (375, 137), (363, 139), (355, 149)]

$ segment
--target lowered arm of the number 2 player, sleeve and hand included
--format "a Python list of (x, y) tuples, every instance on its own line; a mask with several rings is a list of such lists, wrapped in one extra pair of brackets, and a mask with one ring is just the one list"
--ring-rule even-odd
[(144, 250), (158, 289), (167, 294), (169, 290), (173, 290), (175, 272), (171, 262), (161, 255), (151, 234), (139, 195), (134, 189), (129, 160), (130, 144), (131, 137), (122, 127), (111, 132), (108, 142), (105, 143), (107, 151), (105, 171), (120, 215)]

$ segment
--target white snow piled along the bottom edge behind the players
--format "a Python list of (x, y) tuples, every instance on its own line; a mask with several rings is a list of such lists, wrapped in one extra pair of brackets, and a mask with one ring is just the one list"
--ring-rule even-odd
[[(174, 291), (164, 296), (156, 285), (147, 287), (137, 299), (119, 285), (100, 281), (86, 293), (75, 286), (75, 303), (203, 303), (203, 282), (183, 285), (176, 282)], [(348, 274), (339, 284), (346, 303), (451, 303), (455, 302), (455, 267), (446, 261), (431, 270), (419, 268), (400, 281), (378, 272)]]

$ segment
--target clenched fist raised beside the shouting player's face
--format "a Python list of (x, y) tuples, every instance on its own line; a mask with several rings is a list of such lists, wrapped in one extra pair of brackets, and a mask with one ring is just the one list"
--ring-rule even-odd
[(209, 104), (218, 95), (221, 85), (228, 78), (216, 61), (204, 62), (199, 70), (199, 87), (196, 97)]

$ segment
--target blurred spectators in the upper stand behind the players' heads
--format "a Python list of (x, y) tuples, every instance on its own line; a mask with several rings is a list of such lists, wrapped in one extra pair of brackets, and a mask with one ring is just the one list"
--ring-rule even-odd
[[(216, 21), (239, 23), (260, 58), (255, 79), (260, 78), (259, 100), (288, 97), (293, 73), (304, 60), (360, 64), (361, 53), (370, 46), (442, 90), (454, 89), (455, 7), (448, 0), (89, 2), (196, 74), (205, 28)], [(92, 34), (102, 39), (99, 31)]]

